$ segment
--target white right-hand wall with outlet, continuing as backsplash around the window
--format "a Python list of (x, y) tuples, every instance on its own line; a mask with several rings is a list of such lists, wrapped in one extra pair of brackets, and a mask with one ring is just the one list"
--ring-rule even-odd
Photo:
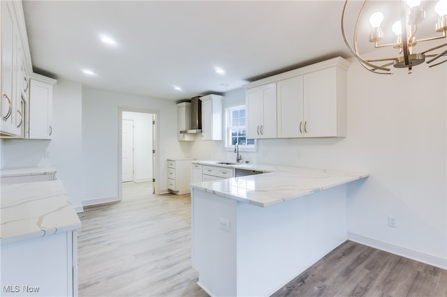
[[(242, 156), (263, 164), (369, 172), (365, 181), (349, 185), (350, 237), (446, 268), (447, 67), (376, 75), (351, 61), (346, 138), (261, 139), (257, 153)], [(244, 89), (226, 93), (223, 102), (244, 104)], [(223, 152), (223, 142), (214, 146), (221, 153), (203, 153), (205, 158), (235, 158)], [(388, 227), (388, 215), (397, 218), (397, 228)]]

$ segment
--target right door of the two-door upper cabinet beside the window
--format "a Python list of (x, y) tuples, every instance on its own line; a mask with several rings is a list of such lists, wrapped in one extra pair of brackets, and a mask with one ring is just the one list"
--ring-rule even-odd
[(277, 137), (277, 84), (266, 84), (259, 87), (262, 102), (262, 121), (259, 138)]

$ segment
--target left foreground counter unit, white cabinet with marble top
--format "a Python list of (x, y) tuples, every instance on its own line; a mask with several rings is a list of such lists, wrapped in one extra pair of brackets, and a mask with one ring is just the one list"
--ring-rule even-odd
[(77, 296), (81, 227), (61, 181), (1, 185), (2, 296)]

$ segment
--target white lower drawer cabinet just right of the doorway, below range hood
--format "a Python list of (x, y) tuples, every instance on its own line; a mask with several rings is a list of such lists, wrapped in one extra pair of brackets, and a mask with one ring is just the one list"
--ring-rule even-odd
[(168, 159), (168, 190), (177, 195), (191, 192), (191, 158)]

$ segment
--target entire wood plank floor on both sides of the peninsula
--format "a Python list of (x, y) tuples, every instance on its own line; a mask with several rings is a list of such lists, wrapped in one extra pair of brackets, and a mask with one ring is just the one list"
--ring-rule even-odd
[[(189, 195), (125, 183), (80, 213), (80, 296), (208, 296), (191, 268)], [(447, 296), (447, 271), (346, 241), (273, 296)]]

